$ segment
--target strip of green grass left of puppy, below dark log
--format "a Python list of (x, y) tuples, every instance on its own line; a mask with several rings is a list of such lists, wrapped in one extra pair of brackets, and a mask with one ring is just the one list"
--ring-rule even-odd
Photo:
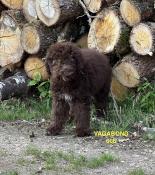
[(40, 99), (9, 99), (0, 103), (0, 121), (48, 118), (51, 108)]

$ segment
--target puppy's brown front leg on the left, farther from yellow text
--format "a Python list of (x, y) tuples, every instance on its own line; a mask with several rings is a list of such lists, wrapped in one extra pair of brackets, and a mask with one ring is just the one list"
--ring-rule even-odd
[(52, 114), (54, 122), (47, 129), (47, 135), (59, 135), (69, 117), (69, 105), (65, 100), (53, 97)]

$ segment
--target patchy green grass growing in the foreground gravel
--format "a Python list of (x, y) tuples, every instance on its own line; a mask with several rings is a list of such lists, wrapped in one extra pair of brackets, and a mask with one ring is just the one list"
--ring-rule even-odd
[(110, 154), (104, 153), (98, 157), (87, 158), (83, 155), (77, 155), (73, 152), (65, 153), (62, 151), (41, 151), (35, 147), (28, 147), (26, 155), (34, 156), (36, 160), (44, 163), (46, 170), (54, 171), (80, 171), (83, 168), (98, 168), (105, 164), (117, 162), (119, 158)]

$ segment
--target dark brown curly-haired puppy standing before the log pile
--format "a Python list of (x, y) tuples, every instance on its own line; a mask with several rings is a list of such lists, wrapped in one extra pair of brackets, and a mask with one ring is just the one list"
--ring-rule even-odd
[(106, 111), (111, 83), (108, 58), (73, 43), (57, 43), (47, 52), (46, 67), (51, 74), (54, 116), (48, 135), (60, 134), (71, 116), (75, 119), (77, 136), (89, 135), (92, 100), (98, 117)]

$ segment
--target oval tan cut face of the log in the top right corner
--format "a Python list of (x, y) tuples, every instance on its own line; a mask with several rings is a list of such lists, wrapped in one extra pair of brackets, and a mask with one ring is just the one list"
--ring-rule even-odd
[(131, 0), (122, 0), (120, 12), (129, 26), (134, 26), (141, 21), (141, 12)]

